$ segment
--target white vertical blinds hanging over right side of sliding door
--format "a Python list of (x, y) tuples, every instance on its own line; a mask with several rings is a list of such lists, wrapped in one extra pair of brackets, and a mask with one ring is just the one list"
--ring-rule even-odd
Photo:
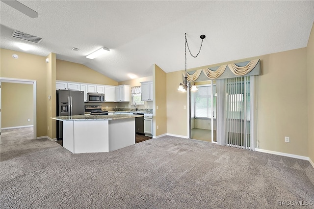
[(255, 148), (255, 78), (217, 79), (217, 142)]

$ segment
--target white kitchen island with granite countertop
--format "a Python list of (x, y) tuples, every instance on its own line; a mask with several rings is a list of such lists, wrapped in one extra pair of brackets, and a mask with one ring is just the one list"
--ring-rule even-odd
[(143, 115), (73, 115), (63, 122), (63, 147), (72, 153), (99, 153), (135, 144), (135, 118)]

